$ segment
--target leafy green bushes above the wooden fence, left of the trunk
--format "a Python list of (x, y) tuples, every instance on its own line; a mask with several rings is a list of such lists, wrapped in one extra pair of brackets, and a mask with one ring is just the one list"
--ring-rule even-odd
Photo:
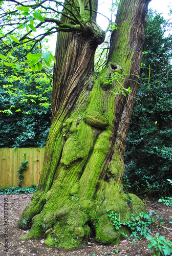
[[(16, 57), (25, 49), (16, 51)], [(46, 75), (47, 74), (47, 75)], [(52, 68), (0, 68), (1, 147), (45, 146), (50, 129)]]

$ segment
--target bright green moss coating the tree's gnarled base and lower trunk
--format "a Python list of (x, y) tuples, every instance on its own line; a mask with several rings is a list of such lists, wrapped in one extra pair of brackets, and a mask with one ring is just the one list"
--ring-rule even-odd
[[(29, 227), (33, 221), (27, 238), (40, 237), (44, 233), (48, 246), (71, 249), (80, 246), (84, 239), (88, 240), (93, 230), (97, 242), (113, 245), (119, 242), (120, 232), (109, 224), (106, 210), (116, 212), (121, 222), (127, 221), (132, 211), (144, 210), (143, 203), (134, 195), (131, 195), (132, 207), (126, 203), (121, 184), (124, 138), (119, 129), (118, 134), (113, 134), (117, 121), (120, 123), (116, 119), (122, 114), (123, 106), (120, 109), (118, 104), (120, 95), (112, 94), (110, 84), (104, 83), (115, 72), (122, 74), (112, 83), (113, 91), (118, 92), (125, 75), (130, 73), (133, 51), (126, 47), (129, 23), (124, 20), (119, 30), (122, 34), (117, 41), (120, 54), (117, 46), (107, 67), (95, 80), (92, 77), (89, 83), (83, 84), (77, 102), (70, 102), (75, 104), (70, 114), (63, 111), (64, 105), (61, 105), (53, 119), (39, 183), (42, 192), (33, 197), (32, 204), (19, 220), (23, 223), (21, 227)], [(84, 80), (87, 75), (82, 75)], [(80, 86), (81, 80), (77, 79), (72, 82)], [(117, 110), (116, 105), (119, 106)]]

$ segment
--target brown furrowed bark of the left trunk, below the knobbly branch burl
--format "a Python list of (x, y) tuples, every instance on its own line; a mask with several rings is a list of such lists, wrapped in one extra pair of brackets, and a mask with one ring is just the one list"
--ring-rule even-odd
[[(91, 75), (94, 68), (96, 48), (92, 48), (91, 40), (83, 38), (78, 33), (72, 33), (70, 36), (66, 34), (65, 41), (68, 41), (68, 47), (64, 50), (66, 51), (65, 58), (61, 59), (60, 57), (58, 60), (56, 57), (57, 65), (54, 68), (56, 77), (54, 77), (53, 87), (56, 90), (53, 91), (52, 96), (53, 117), (59, 108), (61, 111), (64, 109), (70, 111), (83, 89), (84, 81)], [(61, 41), (59, 45), (61, 47)], [(56, 52), (58, 53), (58, 51), (60, 49), (57, 46)]]

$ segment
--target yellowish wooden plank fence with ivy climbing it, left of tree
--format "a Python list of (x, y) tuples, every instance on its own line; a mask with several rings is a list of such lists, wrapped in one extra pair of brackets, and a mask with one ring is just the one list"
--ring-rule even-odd
[(23, 160), (28, 162), (26, 170), (22, 172), (25, 175), (22, 187), (36, 185), (40, 178), (44, 152), (45, 147), (0, 148), (0, 188), (18, 185), (17, 170)]

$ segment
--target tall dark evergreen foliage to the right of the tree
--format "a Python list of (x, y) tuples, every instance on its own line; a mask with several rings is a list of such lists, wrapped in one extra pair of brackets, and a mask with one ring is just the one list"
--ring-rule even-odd
[(160, 14), (149, 11), (142, 75), (125, 150), (124, 179), (129, 181), (125, 186), (138, 194), (171, 191), (167, 179), (172, 164), (172, 35), (165, 37), (167, 25)]

